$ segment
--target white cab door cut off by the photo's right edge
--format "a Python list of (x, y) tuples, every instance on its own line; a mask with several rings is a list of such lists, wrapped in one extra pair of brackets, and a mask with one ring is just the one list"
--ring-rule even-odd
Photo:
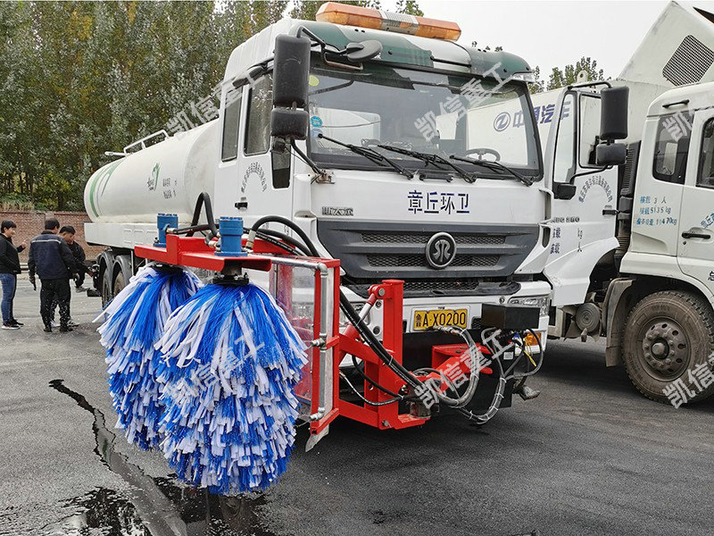
[[(685, 120), (682, 114), (680, 120)], [(681, 125), (686, 125), (680, 121)], [(679, 214), (677, 262), (714, 291), (714, 111), (694, 114)]]

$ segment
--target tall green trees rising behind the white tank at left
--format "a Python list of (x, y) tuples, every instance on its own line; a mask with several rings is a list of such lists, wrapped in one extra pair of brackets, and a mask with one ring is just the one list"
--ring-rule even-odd
[(233, 48), (284, 14), (314, 19), (320, 4), (0, 3), (0, 202), (81, 209), (104, 151), (161, 130), (211, 94)]

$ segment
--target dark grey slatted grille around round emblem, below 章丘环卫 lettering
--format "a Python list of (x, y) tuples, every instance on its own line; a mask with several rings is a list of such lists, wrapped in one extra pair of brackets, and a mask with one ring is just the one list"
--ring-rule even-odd
[[(442, 270), (427, 261), (428, 240), (447, 232), (456, 242), (456, 256)], [(507, 277), (515, 272), (539, 236), (533, 225), (472, 225), (464, 223), (365, 222), (318, 220), (318, 238), (340, 260), (353, 281), (459, 280)], [(453, 284), (453, 282), (449, 284)]]

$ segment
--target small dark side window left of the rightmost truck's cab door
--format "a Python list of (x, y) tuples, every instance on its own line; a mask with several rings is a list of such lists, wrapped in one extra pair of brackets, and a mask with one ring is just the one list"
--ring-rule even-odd
[(657, 180), (685, 183), (692, 118), (688, 113), (664, 116), (657, 125), (652, 175)]

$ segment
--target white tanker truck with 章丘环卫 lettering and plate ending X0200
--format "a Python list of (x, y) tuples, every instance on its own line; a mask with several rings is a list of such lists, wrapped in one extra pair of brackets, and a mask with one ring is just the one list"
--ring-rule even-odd
[[(156, 214), (190, 222), (208, 192), (216, 217), (297, 223), (321, 255), (340, 260), (355, 303), (372, 283), (405, 281), (405, 356), (439, 344), (445, 335), (427, 330), (435, 322), (477, 329), (486, 303), (540, 307), (544, 342), (551, 288), (538, 276), (552, 192), (527, 63), (457, 44), (452, 22), (335, 3), (318, 18), (283, 19), (237, 46), (218, 119), (154, 145), (139, 140), (88, 180), (85, 234), (106, 247), (96, 283), (104, 300), (136, 271), (133, 248), (154, 242)], [(313, 43), (309, 135), (281, 154), (271, 151), (273, 78), (295, 66), (273, 65), (272, 54), (278, 36), (298, 34)], [(521, 126), (485, 145), (495, 118), (484, 111), (502, 103)], [(377, 308), (366, 320), (381, 331)]]

